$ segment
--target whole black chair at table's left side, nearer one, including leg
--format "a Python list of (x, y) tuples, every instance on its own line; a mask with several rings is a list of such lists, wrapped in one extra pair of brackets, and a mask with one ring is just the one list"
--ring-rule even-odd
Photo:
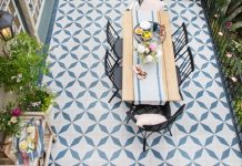
[(113, 83), (115, 89), (114, 94), (109, 100), (109, 103), (118, 94), (119, 90), (122, 90), (122, 66), (119, 66), (119, 59), (105, 50), (104, 65), (105, 74)]

